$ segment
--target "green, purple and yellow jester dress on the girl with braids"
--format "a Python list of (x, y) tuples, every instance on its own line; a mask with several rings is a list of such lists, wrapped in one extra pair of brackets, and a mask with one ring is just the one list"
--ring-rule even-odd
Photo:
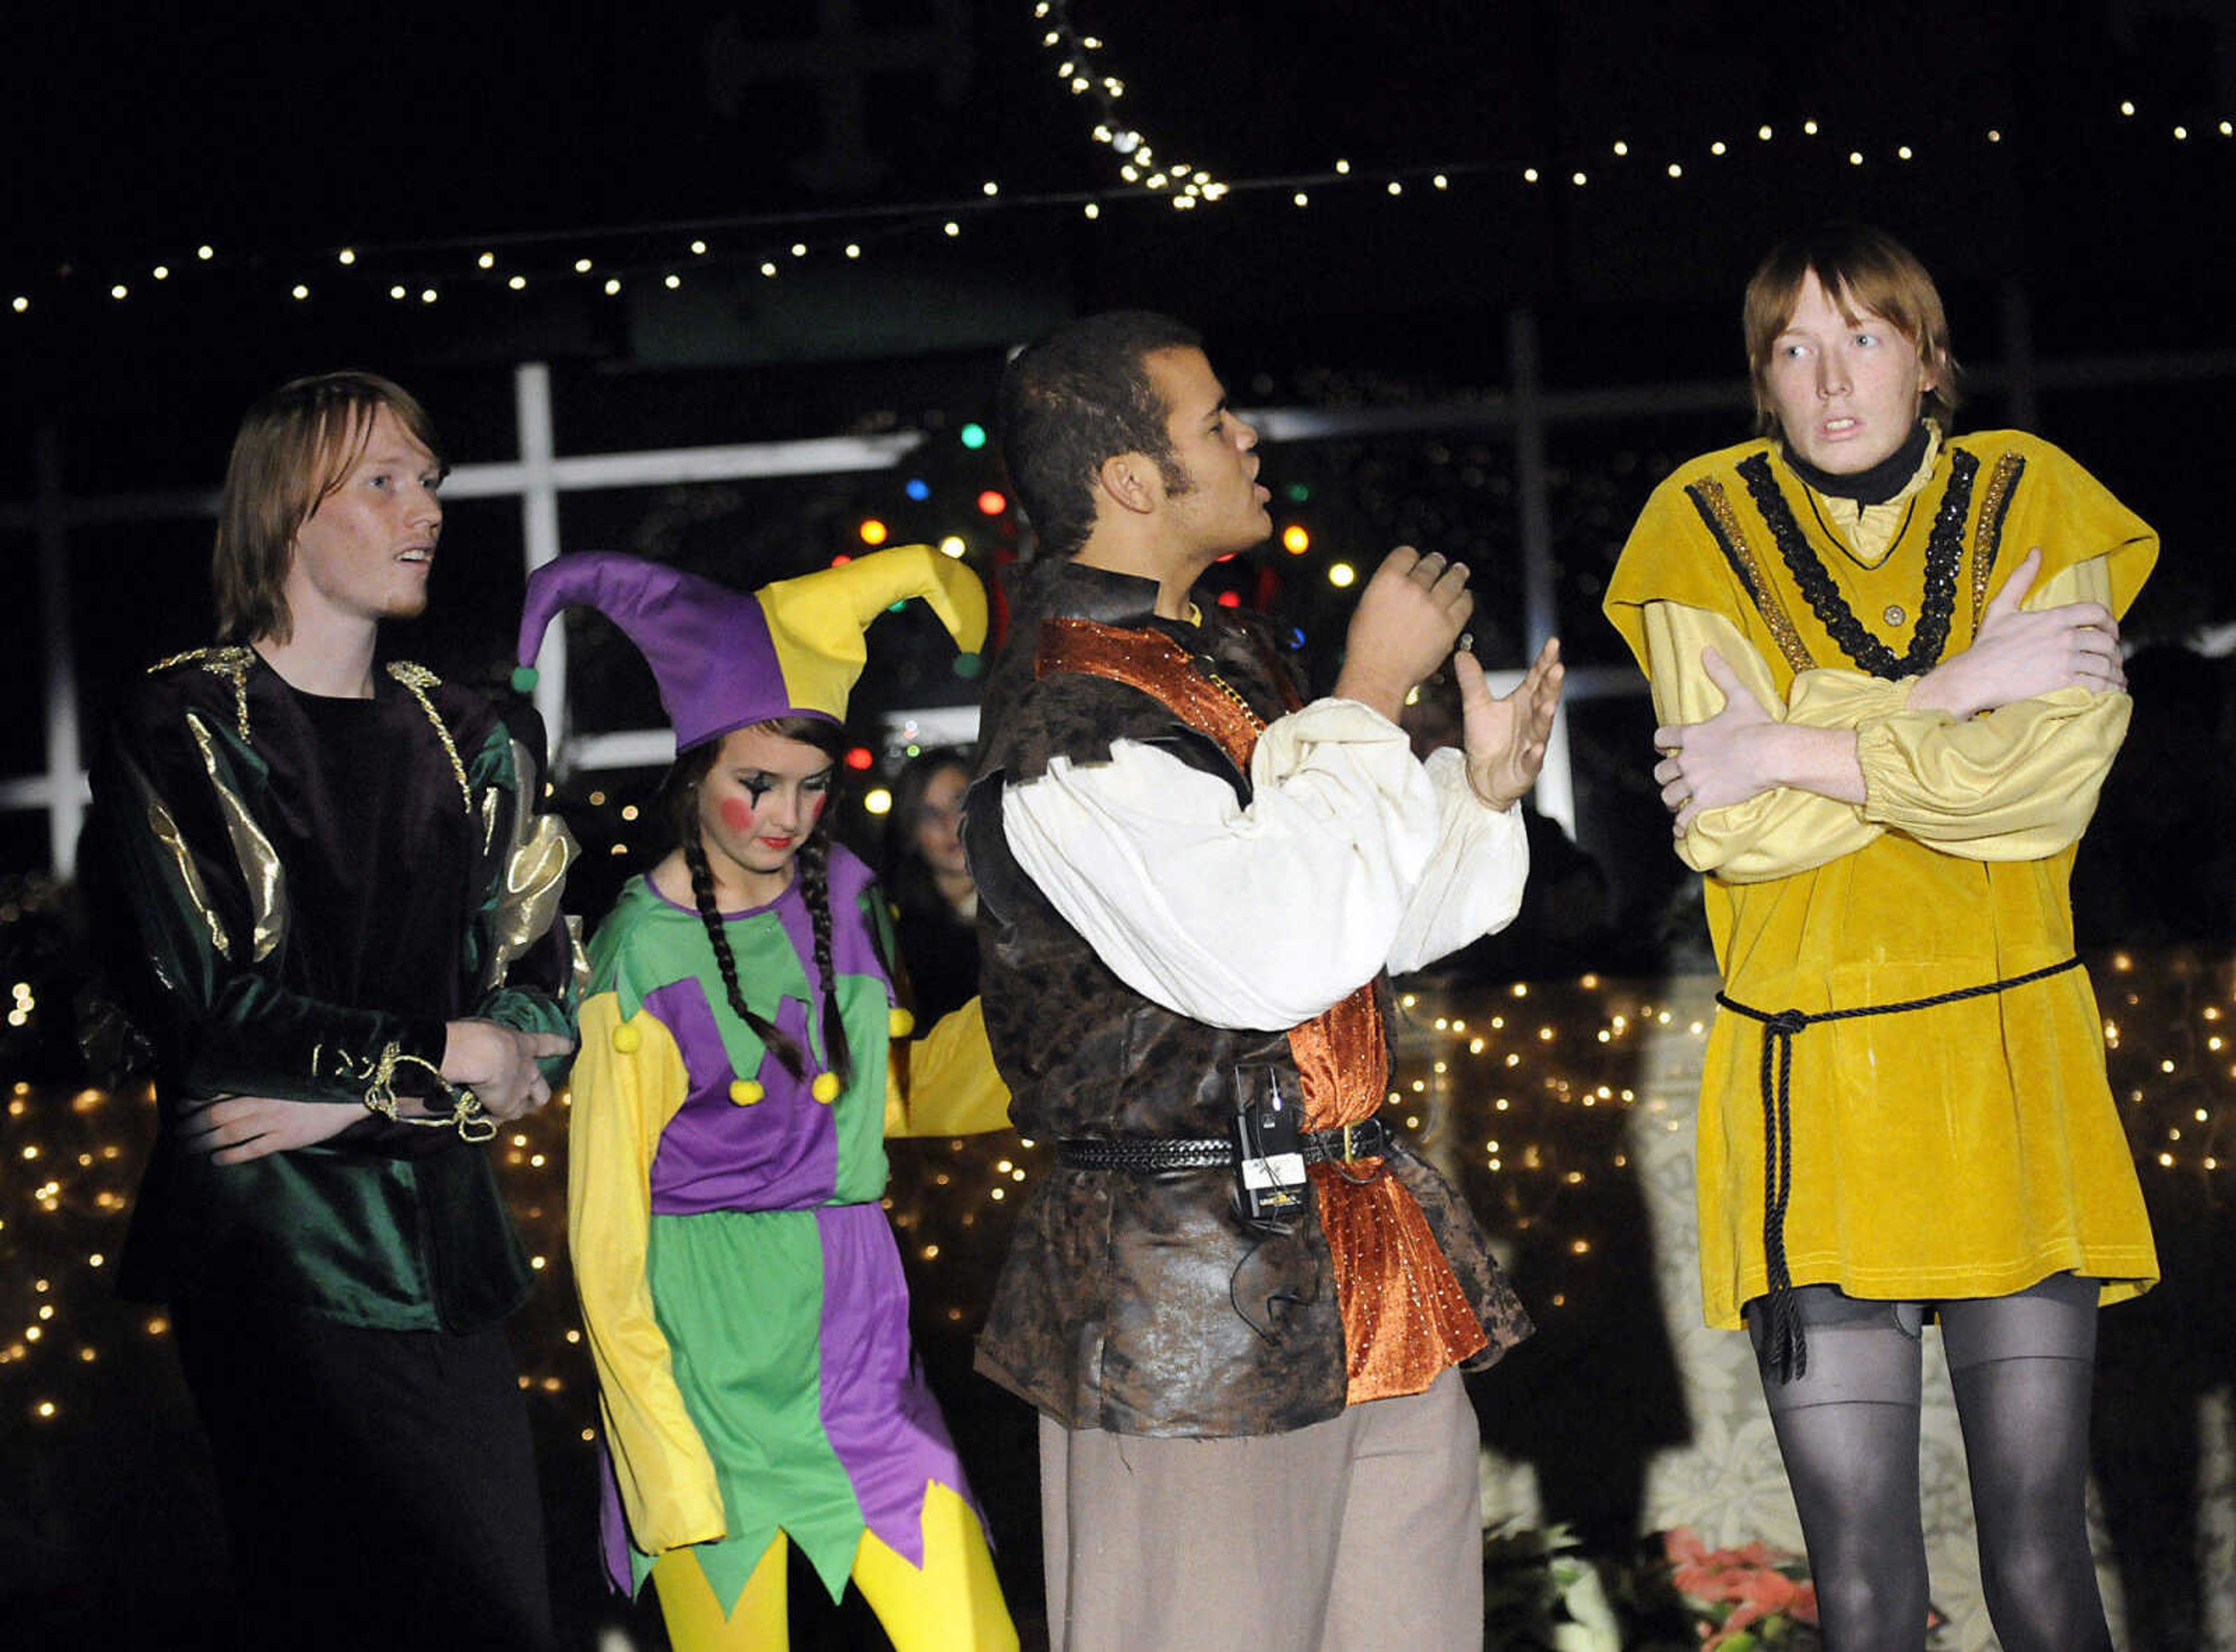
[[(783, 1531), (839, 1596), (865, 1531), (921, 1567), (926, 1502), (970, 1502), (879, 1200), (888, 1129), (986, 1129), (1006, 1093), (975, 1001), (892, 1044), (908, 1013), (883, 896), (836, 845), (827, 879), (834, 981), (816, 979), (800, 879), (720, 917), (747, 1004), (807, 1051), (807, 1075), (731, 1010), (702, 917), (648, 879), (590, 948), (568, 1227), (604, 1395), (604, 1551), (631, 1594), (691, 1547), (727, 1610)], [(825, 990), (854, 1053), (843, 1089)], [(939, 1115), (910, 1115), (910, 1095)]]

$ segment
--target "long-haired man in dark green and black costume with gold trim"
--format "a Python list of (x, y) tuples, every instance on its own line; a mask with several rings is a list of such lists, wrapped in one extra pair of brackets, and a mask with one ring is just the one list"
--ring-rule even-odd
[(483, 1142), (572, 1048), (575, 852), (541, 729), (376, 653), (427, 604), (443, 458), (369, 373), (241, 423), (215, 648), (94, 767), (89, 883), (157, 1057), (125, 1294), (168, 1301), (244, 1645), (541, 1648), (543, 1516)]

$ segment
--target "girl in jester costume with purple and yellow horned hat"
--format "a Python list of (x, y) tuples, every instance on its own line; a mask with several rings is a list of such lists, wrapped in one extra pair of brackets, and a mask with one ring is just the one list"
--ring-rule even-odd
[(888, 1133), (999, 1129), (1008, 1093), (975, 1004), (894, 1044), (888, 908), (825, 825), (863, 626), (917, 595), (979, 646), (977, 579), (926, 545), (758, 595), (613, 554), (528, 588), (523, 666), (595, 606), (675, 724), (675, 849), (593, 941), (568, 1236), (608, 1574), (684, 1652), (787, 1643), (787, 1540), (901, 1652), (1017, 1645), (879, 1205)]

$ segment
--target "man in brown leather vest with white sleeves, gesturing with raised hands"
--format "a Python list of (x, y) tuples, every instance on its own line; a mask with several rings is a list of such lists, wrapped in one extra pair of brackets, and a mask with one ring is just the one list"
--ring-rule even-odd
[[(1507, 700), (1458, 653), (1465, 751), (1424, 767), (1398, 709), (1474, 599), (1402, 548), (1301, 704), (1261, 626), (1190, 595), (1272, 523), (1257, 431), (1167, 317), (1024, 349), (1002, 436), (1040, 559), (964, 829), (995, 1060), (1058, 1167), (979, 1368), (1040, 1411), (1053, 1643), (1480, 1648), (1453, 1368), (1527, 1319), (1382, 1129), (1384, 970), (1512, 919), (1558, 651)], [(1243, 1167), (1243, 1109), (1310, 1133)]]

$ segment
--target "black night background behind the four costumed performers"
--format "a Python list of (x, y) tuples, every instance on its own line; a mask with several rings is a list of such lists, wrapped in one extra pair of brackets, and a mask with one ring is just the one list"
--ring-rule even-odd
[[(2176, 646), (2211, 642), (2236, 619), (2227, 4), (1073, 0), (1069, 13), (1107, 40), (1102, 67), (1127, 83), (1125, 114), (1165, 159), (1230, 181), (1228, 199), (1174, 212), (1122, 188), (1111, 150), (1087, 139), (1089, 103), (1055, 78), (1031, 0), (13, 9), (0, 38), (0, 568), (18, 579), (16, 599), (0, 604), (0, 695), (16, 715), (0, 720), (0, 778), (45, 765), (38, 704), (58, 624), (74, 639), (87, 731), (132, 673), (206, 642), (210, 624), (208, 521), (192, 505), (74, 528), (67, 621), (40, 610), (29, 519), (7, 514), (34, 499), (40, 445), (72, 499), (208, 492), (257, 393), (347, 364), (420, 393), (454, 463), (508, 461), (512, 367), (541, 360), (552, 364), (561, 454), (928, 434), (912, 463), (935, 487), (923, 507), (899, 499), (897, 474), (568, 494), (568, 548), (637, 550), (760, 583), (856, 545), (856, 523), (879, 514), (897, 537), (968, 530), (986, 570), (1015, 552), (1017, 523), (979, 521), (961, 503), (1002, 476), (988, 449), (957, 436), (968, 420), (991, 423), (1011, 344), (1111, 304), (1203, 326), (1237, 400), (1252, 407), (1496, 409), (1518, 369), (1516, 311), (1534, 322), (1550, 391), (1713, 387), (1664, 411), (1547, 434), (1570, 657), (1628, 668), (1597, 619), (1599, 581), (1655, 481), (1746, 434), (1746, 273), (1787, 232), (1863, 217), (1905, 239), (1943, 286), (1957, 353), (1977, 369), (1961, 423), (2010, 418), (2008, 329), (2024, 306), (2030, 353), (2055, 369), (2030, 423), (2164, 534), (2160, 570), (2126, 624), (2153, 653), (2133, 673), (2135, 733), (2084, 852), (2079, 917), (2095, 946), (2202, 946), (2185, 955), (2189, 975), (2147, 970), (2169, 993), (2191, 977), (2227, 986), (2236, 872), (2220, 820), (2236, 807), (2225, 796), (2236, 695), (2220, 659)], [(1769, 141), (1755, 136), (1762, 125)], [(2176, 139), (2176, 125), (2189, 136)], [(1614, 154), (1619, 141), (1628, 154)], [(1898, 159), (1901, 145), (1912, 159)], [(1527, 183), (1525, 168), (1541, 181)], [(1583, 188), (1565, 181), (1579, 170)], [(1438, 172), (1449, 188), (1433, 186)], [(999, 183), (995, 197), (986, 181)], [(1100, 217), (1084, 215), (1089, 201)], [(693, 241), (707, 253), (691, 253)], [(203, 244), (210, 259), (197, 257)], [(794, 244), (807, 253), (794, 257)], [(338, 262), (342, 248), (353, 264)], [(593, 270), (577, 275), (577, 259)], [(780, 275), (762, 277), (762, 262)], [(505, 284), (514, 275), (525, 291)], [(608, 295), (606, 279), (622, 291)], [(123, 300), (110, 297), (116, 284)], [(293, 300), (295, 284), (311, 297)], [(407, 297), (391, 300), (391, 286)], [(2126, 364), (2091, 371), (2109, 358)], [(2133, 358), (2147, 358), (2151, 382), (2138, 382)], [(1310, 525), (1315, 570), (1326, 554), (1373, 557), (1398, 539), (1469, 557), (1485, 592), (1478, 639), (1494, 664), (1518, 664), (1514, 445), (1496, 418), (1272, 445), (1266, 476), (1283, 521)], [(1342, 601), (1299, 570), (1268, 557), (1219, 581), (1295, 624), (1308, 659), (1326, 664)], [(510, 664), (519, 583), (514, 501), (452, 503), (434, 610), (398, 646), (449, 675), (494, 680)], [(919, 619), (888, 621), (894, 635), (881, 633), (865, 704), (970, 695)], [(595, 621), (575, 621), (575, 637), (579, 727), (653, 722), (642, 664)], [(1697, 899), (1679, 887), (1646, 796), (1648, 729), (1639, 697), (1574, 704), (1579, 807), (1597, 823), (1588, 847), (1610, 905), (1581, 939), (1487, 968), (1697, 961), (1686, 952)], [(646, 847), (619, 814), (644, 789), (642, 776), (617, 776), (561, 796), (590, 849), (570, 901), (590, 917)], [(150, 1643), (192, 1643), (219, 1545), (192, 1478), (183, 1397), (139, 1314), (101, 1306), (98, 1276), (72, 1272), (89, 1247), (114, 1247), (130, 1180), (98, 1167), (110, 1147), (130, 1162), (148, 1120), (123, 1095), (69, 1100), (83, 1066), (60, 1010), (80, 952), (67, 892), (22, 876), (45, 863), (42, 816), (0, 811), (0, 961), (9, 979), (36, 981), (47, 1006), (27, 1031), (0, 1033), (0, 1077), (20, 1075), (40, 1100), (0, 1122), (0, 1174), (18, 1176), (16, 1142), (34, 1129), (83, 1149), (94, 1169), (76, 1183), (83, 1209), (31, 1236), (18, 1212), (36, 1200), (29, 1185), (13, 1189), (0, 1259), (76, 1281), (87, 1346), (136, 1352), (85, 1373), (67, 1442), (34, 1431), (45, 1444), (7, 1449), (25, 1464), (27, 1496), (16, 1507), (0, 1498), (0, 1547), (18, 1558), (0, 1625), (9, 1598), (29, 1601), (56, 1632), (83, 1639), (96, 1625), (98, 1643), (107, 1605), (119, 1623), (161, 1625)], [(2169, 1026), (2187, 1026), (2185, 1015), (2169, 1013)], [(2191, 1100), (2153, 1091), (2151, 1107)], [(132, 1118), (119, 1122), (116, 1107)], [(539, 1147), (557, 1151), (543, 1136)], [(521, 1153), (523, 1223), (555, 1236), (550, 1162)], [(953, 1214), (923, 1187), (946, 1187), (937, 1162), (903, 1151), (899, 1165), (901, 1191)], [(2115, 1458), (2178, 1469), (2182, 1442), (2151, 1435), (2144, 1413), (2187, 1415), (2173, 1402), (2227, 1379), (2227, 1352), (2198, 1330), (2227, 1321), (2225, 1303), (2214, 1306), (2225, 1214), (2202, 1178), (2147, 1180), (2162, 1234), (2180, 1241), (2169, 1281), (2182, 1279), (2131, 1310), (2156, 1319), (2124, 1344), (2117, 1384), (2133, 1404)], [(1482, 1203), (1496, 1218), (1496, 1200)], [(38, 1252), (49, 1232), (67, 1238), (54, 1256)], [(991, 1236), (993, 1223), (977, 1238), (950, 1229), (946, 1243), (950, 1256), (991, 1261)], [(961, 1261), (939, 1279), (919, 1270), (919, 1303), (937, 1308), (919, 1339), (957, 1431), (999, 1464), (982, 1480), (1029, 1478), (1029, 1424), (1020, 1435), (1017, 1417), (966, 1375), (984, 1288), (966, 1272)], [(4, 1283), (9, 1301), (34, 1301)], [(1563, 1290), (1588, 1297), (1585, 1285)], [(1597, 1301), (1630, 1335), (1623, 1290), (1614, 1279)], [(550, 1475), (555, 1567), (588, 1627), (606, 1607), (584, 1554), (586, 1368), (563, 1344), (570, 1314), (555, 1276), (523, 1341), (537, 1382), (561, 1384), (539, 1388), (537, 1415), (561, 1464)], [(1639, 1368), (1610, 1359), (1597, 1368)], [(1547, 1393), (1574, 1390), (1572, 1373), (1588, 1364), (1547, 1373)], [(4, 1424), (18, 1428), (18, 1415)], [(2176, 1484), (2173, 1469), (2158, 1480)], [(1579, 1473), (1619, 1502), (1621, 1464)], [(1599, 1513), (1576, 1509), (1583, 1522)], [(993, 1516), (1024, 1610), (1031, 1504)], [(2173, 1598), (2182, 1516), (2153, 1518), (2169, 1536), (2162, 1594)], [(114, 1578), (141, 1560), (145, 1587), (119, 1589)], [(843, 1645), (856, 1630), (816, 1632)], [(2182, 1639), (2162, 1630), (2144, 1643)]]

